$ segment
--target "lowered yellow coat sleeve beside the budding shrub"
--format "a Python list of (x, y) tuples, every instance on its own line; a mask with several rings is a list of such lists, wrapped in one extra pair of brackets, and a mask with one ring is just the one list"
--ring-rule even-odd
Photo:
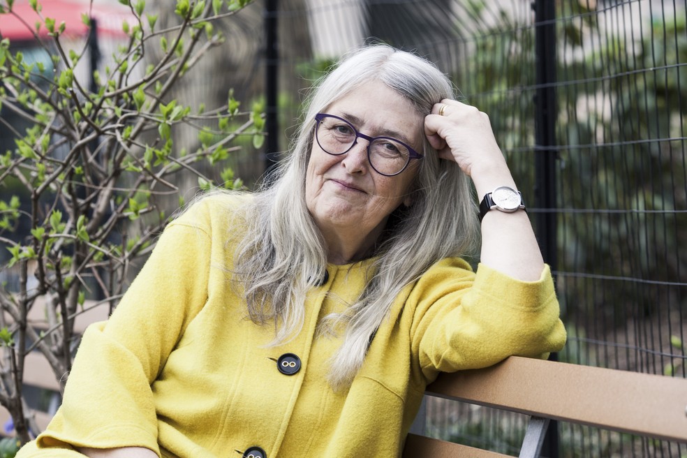
[(171, 223), (110, 319), (84, 332), (61, 407), (18, 457), (81, 457), (72, 446), (145, 447), (160, 455), (151, 384), (207, 300), (203, 221), (197, 205)]

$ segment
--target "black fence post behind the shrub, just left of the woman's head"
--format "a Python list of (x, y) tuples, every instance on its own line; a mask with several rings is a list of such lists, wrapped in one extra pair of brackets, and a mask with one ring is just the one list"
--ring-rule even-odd
[(279, 94), (279, 48), (277, 34), (277, 0), (265, 4), (265, 176), (269, 176), (279, 155), (279, 119), (277, 98)]

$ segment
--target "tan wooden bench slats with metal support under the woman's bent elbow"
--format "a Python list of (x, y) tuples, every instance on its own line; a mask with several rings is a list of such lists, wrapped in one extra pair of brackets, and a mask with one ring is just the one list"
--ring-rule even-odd
[[(520, 457), (539, 457), (550, 420), (687, 442), (687, 379), (509, 357), (441, 374), (427, 394), (531, 415)], [(404, 458), (495, 458), (500, 453), (408, 434)]]

